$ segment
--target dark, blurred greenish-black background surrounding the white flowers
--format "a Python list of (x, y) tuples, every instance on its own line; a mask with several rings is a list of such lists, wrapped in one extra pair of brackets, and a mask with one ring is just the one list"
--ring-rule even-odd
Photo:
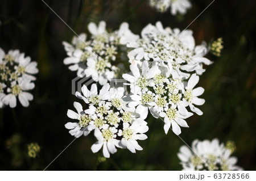
[[(46, 3), (76, 32), (86, 32), (89, 22), (105, 20), (109, 30), (122, 22), (139, 34), (148, 23), (186, 28), (212, 1), (191, 1), (185, 15), (163, 14), (148, 1), (46, 0)], [(187, 119), (190, 128), (182, 128), (180, 137), (188, 145), (199, 140), (218, 138), (236, 143), (233, 155), (245, 170), (256, 169), (256, 1), (218, 1), (210, 5), (189, 26), (196, 44), (222, 37), (221, 57), (209, 54), (214, 64), (201, 75), (205, 88), (200, 107), (203, 116)], [(38, 62), (34, 100), (28, 108), (18, 103), (15, 109), (0, 110), (0, 170), (43, 170), (73, 139), (64, 124), (71, 121), (67, 110), (78, 99), (71, 94), (76, 72), (63, 64), (66, 57), (62, 41), (71, 41), (74, 33), (40, 0), (1, 0), (0, 47), (7, 52), (19, 49)], [(47, 170), (181, 170), (177, 153), (184, 143), (174, 133), (163, 131), (163, 122), (148, 119), (148, 139), (140, 141), (136, 154), (118, 149), (110, 159), (93, 154), (93, 134), (80, 137)], [(31, 155), (31, 143), (40, 151)], [(34, 145), (38, 147), (37, 145)], [(35, 158), (33, 158), (35, 156)]]

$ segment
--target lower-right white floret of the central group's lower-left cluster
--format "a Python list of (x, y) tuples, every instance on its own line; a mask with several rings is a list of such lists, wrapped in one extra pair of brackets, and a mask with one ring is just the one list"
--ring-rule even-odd
[(136, 119), (130, 125), (123, 123), (123, 129), (119, 129), (118, 136), (122, 136), (121, 146), (129, 149), (132, 153), (136, 150), (143, 150), (136, 140), (146, 140), (146, 133), (148, 131), (147, 122), (142, 119)]

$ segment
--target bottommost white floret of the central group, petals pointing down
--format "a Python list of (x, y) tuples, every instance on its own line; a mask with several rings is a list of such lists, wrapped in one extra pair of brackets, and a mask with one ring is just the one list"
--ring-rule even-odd
[(103, 155), (106, 158), (110, 157), (110, 153), (114, 154), (117, 152), (117, 149), (115, 146), (120, 148), (119, 141), (115, 139), (117, 135), (117, 129), (114, 127), (110, 127), (107, 129), (103, 129), (103, 131), (100, 131), (100, 129), (95, 129), (94, 136), (98, 139), (98, 141), (92, 145), (92, 151), (93, 153), (98, 152), (102, 146), (103, 146)]

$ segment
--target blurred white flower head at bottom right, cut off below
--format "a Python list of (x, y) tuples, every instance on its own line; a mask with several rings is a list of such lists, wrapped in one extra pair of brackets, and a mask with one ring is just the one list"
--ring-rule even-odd
[(183, 170), (243, 170), (236, 166), (237, 158), (231, 157), (233, 150), (220, 144), (217, 138), (212, 141), (195, 140), (192, 142), (192, 150), (183, 145), (177, 154)]

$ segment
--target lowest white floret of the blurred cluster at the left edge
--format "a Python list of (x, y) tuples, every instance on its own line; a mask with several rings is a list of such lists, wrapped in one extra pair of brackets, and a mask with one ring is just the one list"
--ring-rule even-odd
[(28, 100), (32, 100), (33, 95), (26, 91), (34, 89), (34, 87), (34, 83), (22, 79), (18, 80), (18, 84), (16, 83), (16, 81), (11, 82), (11, 87), (7, 89), (7, 92), (9, 94), (7, 94), (2, 99), (2, 102), (6, 105), (9, 105), (11, 108), (14, 108), (16, 107), (16, 96), (18, 96), (19, 102), (22, 104), (22, 106), (28, 107)]

